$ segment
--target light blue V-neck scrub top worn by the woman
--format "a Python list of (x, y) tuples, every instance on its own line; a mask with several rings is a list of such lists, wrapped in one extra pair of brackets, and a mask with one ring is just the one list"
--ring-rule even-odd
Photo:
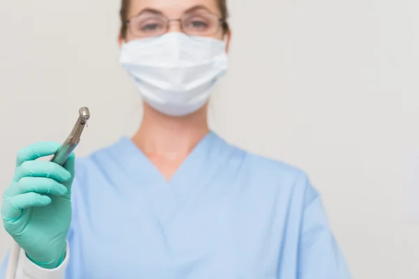
[(123, 137), (72, 191), (66, 279), (351, 278), (307, 175), (214, 133), (169, 182)]

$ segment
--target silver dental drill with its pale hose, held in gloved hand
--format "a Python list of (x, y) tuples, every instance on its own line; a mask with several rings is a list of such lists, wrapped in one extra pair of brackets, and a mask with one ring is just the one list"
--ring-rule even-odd
[[(74, 151), (80, 142), (80, 136), (84, 130), (84, 126), (87, 126), (87, 121), (90, 119), (90, 111), (87, 107), (82, 107), (79, 110), (79, 117), (75, 122), (74, 128), (68, 135), (65, 142), (60, 146), (58, 151), (54, 154), (51, 162), (57, 163), (58, 165), (64, 165), (68, 156)], [(13, 243), (12, 249), (8, 259), (8, 266), (6, 270), (6, 279), (15, 279), (17, 261), (19, 259), (20, 247), (15, 242)]]

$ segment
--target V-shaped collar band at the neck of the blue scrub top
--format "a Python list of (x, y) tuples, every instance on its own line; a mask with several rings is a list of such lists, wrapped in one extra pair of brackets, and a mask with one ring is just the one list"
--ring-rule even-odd
[(128, 137), (122, 137), (110, 151), (135, 187), (135, 193), (152, 204), (152, 210), (159, 218), (159, 225), (163, 227), (188, 199), (205, 187), (205, 178), (216, 169), (222, 143), (223, 140), (213, 132), (207, 133), (170, 181), (166, 181), (159, 169)]

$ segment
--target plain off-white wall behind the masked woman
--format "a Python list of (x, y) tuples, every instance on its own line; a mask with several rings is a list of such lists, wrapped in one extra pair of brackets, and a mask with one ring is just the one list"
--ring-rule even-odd
[[(140, 97), (118, 63), (119, 4), (1, 1), (0, 191), (18, 149), (63, 141), (79, 107), (92, 116), (78, 156), (138, 128)], [(309, 173), (354, 278), (419, 278), (403, 182), (404, 158), (419, 149), (418, 1), (229, 5), (230, 70), (212, 128)], [(9, 245), (0, 229), (0, 255)]]

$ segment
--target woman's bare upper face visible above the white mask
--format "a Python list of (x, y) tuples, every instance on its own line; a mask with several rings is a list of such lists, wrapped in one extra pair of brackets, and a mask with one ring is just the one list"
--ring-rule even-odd
[(227, 45), (230, 40), (230, 32), (225, 33), (221, 23), (216, 21), (221, 18), (216, 0), (131, 0), (128, 18), (132, 20), (126, 41), (166, 32), (167, 25), (163, 19), (172, 20), (167, 32), (182, 32), (180, 22), (176, 21), (181, 18), (184, 19), (184, 31), (190, 32), (190, 35), (219, 40), (223, 40), (226, 35)]

